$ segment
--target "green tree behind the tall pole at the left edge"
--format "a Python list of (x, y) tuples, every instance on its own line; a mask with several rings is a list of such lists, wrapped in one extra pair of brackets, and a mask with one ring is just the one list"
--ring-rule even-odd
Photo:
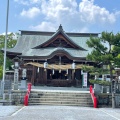
[[(5, 35), (0, 35), (0, 49), (4, 49), (4, 41)], [(7, 36), (7, 48), (13, 48), (16, 45), (17, 40), (14, 38), (14, 34), (10, 33)], [(2, 78), (2, 68), (3, 68), (3, 60), (4, 53), (0, 51), (0, 78)], [(12, 61), (7, 58), (6, 60), (6, 68), (10, 68), (12, 65)]]

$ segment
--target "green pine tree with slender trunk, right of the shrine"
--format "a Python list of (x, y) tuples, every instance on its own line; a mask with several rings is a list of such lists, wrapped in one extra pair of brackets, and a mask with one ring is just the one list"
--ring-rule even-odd
[(115, 94), (113, 90), (114, 67), (120, 65), (120, 33), (102, 32), (101, 37), (90, 37), (87, 41), (88, 47), (92, 52), (88, 54), (87, 59), (98, 64), (108, 65), (111, 79), (112, 108), (115, 108)]

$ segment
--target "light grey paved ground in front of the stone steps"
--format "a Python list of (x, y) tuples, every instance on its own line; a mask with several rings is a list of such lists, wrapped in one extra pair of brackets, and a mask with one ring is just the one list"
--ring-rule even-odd
[(120, 120), (120, 109), (74, 106), (0, 106), (0, 120)]

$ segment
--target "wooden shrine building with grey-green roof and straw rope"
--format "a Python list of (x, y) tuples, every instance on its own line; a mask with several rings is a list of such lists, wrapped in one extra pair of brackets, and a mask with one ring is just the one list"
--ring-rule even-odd
[(61, 25), (56, 32), (21, 30), (7, 56), (19, 59), (19, 80), (26, 69), (27, 81), (33, 85), (82, 86), (82, 65), (94, 64), (86, 60), (92, 51), (86, 44), (90, 36), (98, 33), (68, 33)]

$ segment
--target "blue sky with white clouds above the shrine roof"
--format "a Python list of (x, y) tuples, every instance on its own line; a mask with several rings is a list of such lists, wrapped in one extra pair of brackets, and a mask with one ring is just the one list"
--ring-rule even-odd
[[(19, 30), (120, 32), (120, 0), (9, 0), (9, 32)], [(6, 28), (7, 0), (0, 4), (0, 34)]]

